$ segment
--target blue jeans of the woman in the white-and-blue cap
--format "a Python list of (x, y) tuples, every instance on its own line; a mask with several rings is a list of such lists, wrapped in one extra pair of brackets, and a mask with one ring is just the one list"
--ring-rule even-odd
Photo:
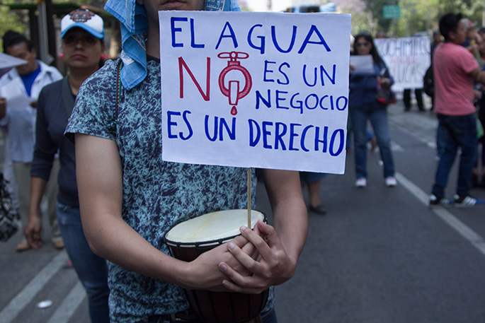
[(79, 208), (57, 202), (57, 222), (72, 266), (88, 294), (91, 323), (109, 323), (108, 266), (89, 248), (81, 226)]

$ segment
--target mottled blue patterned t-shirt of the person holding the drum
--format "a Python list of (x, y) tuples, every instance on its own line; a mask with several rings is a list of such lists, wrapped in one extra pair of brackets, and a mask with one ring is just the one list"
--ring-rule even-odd
[[(147, 77), (120, 93), (118, 119), (114, 88), (117, 62), (107, 61), (79, 90), (67, 135), (90, 134), (116, 141), (123, 174), (122, 217), (165, 253), (164, 234), (188, 218), (224, 209), (245, 209), (246, 169), (169, 163), (161, 160), (159, 61), (147, 64)], [(116, 134), (108, 124), (117, 122)], [(252, 178), (256, 205), (256, 177)], [(188, 308), (181, 288), (110, 263), (112, 322), (137, 322)], [(217, 270), (217, 268), (216, 268)], [(273, 294), (268, 301), (273, 306)]]

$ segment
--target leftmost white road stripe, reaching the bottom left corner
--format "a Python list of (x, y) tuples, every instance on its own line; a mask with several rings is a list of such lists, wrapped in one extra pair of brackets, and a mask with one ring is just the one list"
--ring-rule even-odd
[(34, 278), (18, 293), (0, 312), (0, 323), (11, 323), (16, 316), (23, 311), (35, 295), (45, 286), (45, 283), (54, 276), (59, 268), (67, 262), (65, 250), (59, 252), (56, 257), (41, 270)]

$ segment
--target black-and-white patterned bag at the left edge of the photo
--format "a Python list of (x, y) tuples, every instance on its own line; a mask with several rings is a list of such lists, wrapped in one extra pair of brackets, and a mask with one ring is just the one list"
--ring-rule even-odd
[(0, 172), (0, 241), (7, 241), (21, 227), (21, 217), (13, 206), (7, 181)]

